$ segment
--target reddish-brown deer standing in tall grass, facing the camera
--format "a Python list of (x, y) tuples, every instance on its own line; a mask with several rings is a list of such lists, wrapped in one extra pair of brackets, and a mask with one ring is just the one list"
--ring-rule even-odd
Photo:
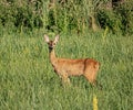
[(60, 36), (57, 35), (53, 41), (44, 34), (44, 41), (48, 43), (49, 47), (49, 58), (52, 64), (54, 72), (62, 79), (63, 84), (71, 84), (70, 76), (84, 76), (88, 81), (95, 86), (96, 75), (100, 68), (100, 63), (92, 58), (59, 58), (55, 55), (54, 48), (59, 42)]

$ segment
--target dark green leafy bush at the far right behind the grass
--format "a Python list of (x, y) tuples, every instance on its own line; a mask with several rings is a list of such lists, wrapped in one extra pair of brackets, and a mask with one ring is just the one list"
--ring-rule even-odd
[(101, 28), (106, 26), (113, 32), (123, 34), (133, 33), (133, 2), (126, 1), (113, 6), (112, 10), (101, 9), (98, 11), (98, 20)]

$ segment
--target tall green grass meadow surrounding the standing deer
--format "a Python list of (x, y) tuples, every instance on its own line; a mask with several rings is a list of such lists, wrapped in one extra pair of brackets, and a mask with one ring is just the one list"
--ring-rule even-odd
[(61, 35), (58, 57), (90, 57), (101, 63), (100, 90), (84, 77), (63, 87), (49, 62), (43, 34), (0, 34), (0, 110), (132, 110), (133, 36)]

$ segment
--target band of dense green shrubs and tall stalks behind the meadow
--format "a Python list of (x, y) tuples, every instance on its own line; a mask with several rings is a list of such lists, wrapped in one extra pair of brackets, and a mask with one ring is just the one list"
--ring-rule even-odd
[(84, 33), (133, 33), (133, 0), (0, 0), (0, 26)]

